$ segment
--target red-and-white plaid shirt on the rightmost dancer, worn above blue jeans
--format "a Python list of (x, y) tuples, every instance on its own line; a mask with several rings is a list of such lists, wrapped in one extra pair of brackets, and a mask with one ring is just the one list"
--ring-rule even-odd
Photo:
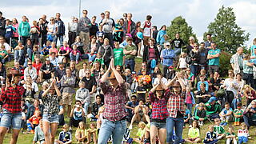
[(176, 118), (178, 110), (181, 112), (181, 114), (185, 114), (185, 98), (186, 92), (182, 92), (182, 94), (170, 93), (170, 98), (167, 103), (167, 109), (170, 117)]

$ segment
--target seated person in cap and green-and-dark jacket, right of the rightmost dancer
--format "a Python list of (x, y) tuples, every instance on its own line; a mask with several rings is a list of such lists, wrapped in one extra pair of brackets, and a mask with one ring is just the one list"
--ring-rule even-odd
[(206, 116), (214, 120), (214, 118), (219, 118), (218, 113), (221, 111), (221, 106), (216, 102), (215, 97), (211, 97), (208, 102), (206, 102)]

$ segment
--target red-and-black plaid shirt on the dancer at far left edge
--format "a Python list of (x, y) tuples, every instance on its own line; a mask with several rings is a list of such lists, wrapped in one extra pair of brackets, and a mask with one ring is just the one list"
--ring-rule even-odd
[(7, 90), (2, 89), (2, 94), (0, 94), (0, 100), (3, 102), (3, 109), (10, 111), (12, 114), (22, 112), (22, 95), (25, 89), (23, 86), (9, 87)]

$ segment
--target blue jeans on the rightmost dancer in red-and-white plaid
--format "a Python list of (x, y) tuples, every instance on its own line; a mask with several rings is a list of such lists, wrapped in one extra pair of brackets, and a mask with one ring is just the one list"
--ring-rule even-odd
[(184, 126), (184, 118), (172, 118), (169, 117), (166, 119), (166, 130), (167, 130), (167, 137), (166, 142), (173, 143), (173, 131), (175, 127), (175, 135), (176, 138), (174, 140), (174, 144), (178, 144), (182, 140), (182, 130)]

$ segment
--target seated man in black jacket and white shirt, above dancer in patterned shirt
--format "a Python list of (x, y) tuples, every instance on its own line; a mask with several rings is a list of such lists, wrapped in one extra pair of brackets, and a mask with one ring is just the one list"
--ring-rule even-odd
[(55, 70), (54, 65), (50, 63), (50, 58), (46, 58), (46, 62), (42, 65), (39, 71), (39, 82), (42, 82), (42, 79), (49, 80), (52, 77), (52, 74)]

